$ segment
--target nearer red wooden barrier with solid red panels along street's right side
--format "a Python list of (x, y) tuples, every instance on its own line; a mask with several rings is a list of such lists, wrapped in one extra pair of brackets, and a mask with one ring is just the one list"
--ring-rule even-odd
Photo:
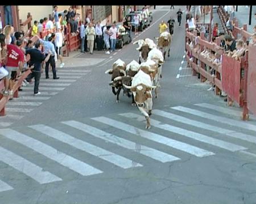
[[(243, 28), (234, 27), (234, 31), (236, 34), (240, 34), (243, 40), (247, 40), (251, 36), (251, 33), (246, 31), (246, 25)], [(185, 59), (188, 62), (188, 66), (192, 68), (193, 75), (198, 74), (201, 82), (208, 80), (214, 84), (216, 95), (220, 95), (221, 91), (225, 91), (228, 95), (228, 105), (232, 105), (233, 101), (236, 101), (243, 108), (243, 120), (248, 120), (249, 111), (256, 114), (256, 47), (250, 45), (249, 51), (245, 52), (245, 56), (236, 60), (224, 55), (224, 50), (220, 48), (220, 38), (218, 37), (216, 38), (216, 43), (213, 43), (204, 39), (203, 32), (198, 36), (196, 31), (193, 33), (187, 31), (185, 39), (186, 41), (190, 39), (193, 42), (192, 48), (187, 43), (185, 45), (185, 50), (187, 51)], [(210, 52), (214, 51), (221, 54), (221, 65), (213, 64), (209, 58), (205, 58), (200, 54), (205, 48)], [(215, 74), (210, 74), (205, 69), (205, 66), (213, 68)]]

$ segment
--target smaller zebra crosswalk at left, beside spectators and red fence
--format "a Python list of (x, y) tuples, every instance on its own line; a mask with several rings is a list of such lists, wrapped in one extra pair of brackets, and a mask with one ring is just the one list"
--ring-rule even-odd
[[(27, 113), (42, 105), (44, 101), (49, 100), (52, 96), (65, 90), (66, 87), (71, 86), (77, 79), (89, 73), (90, 70), (63, 68), (57, 70), (57, 75), (60, 76), (58, 80), (46, 79), (42, 75), (39, 84), (40, 96), (34, 96), (34, 83), (22, 87), (23, 91), (19, 92), (19, 97), (6, 104), (7, 116), (0, 117), (0, 128), (14, 124), (16, 120), (23, 118)], [(52, 78), (51, 74), (49, 73), (50, 78)]]

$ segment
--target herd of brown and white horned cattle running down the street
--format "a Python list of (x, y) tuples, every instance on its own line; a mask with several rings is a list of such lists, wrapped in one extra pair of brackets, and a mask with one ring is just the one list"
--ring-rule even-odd
[[(139, 108), (139, 111), (146, 117), (146, 129), (150, 129), (150, 116), (152, 112), (152, 89), (155, 89), (155, 97), (158, 97), (158, 88), (160, 88), (159, 80), (162, 78), (162, 65), (166, 53), (170, 57), (170, 46), (172, 36), (168, 32), (161, 33), (158, 45), (151, 39), (138, 40), (133, 44), (139, 47), (139, 63), (135, 60), (128, 65), (121, 59), (117, 59), (113, 63), (112, 69), (105, 71), (105, 74), (112, 75), (112, 92), (117, 96), (119, 103), (119, 94), (123, 90), (123, 94), (132, 97), (132, 105)], [(117, 91), (115, 91), (117, 90)], [(132, 94), (130, 94), (130, 91)]]

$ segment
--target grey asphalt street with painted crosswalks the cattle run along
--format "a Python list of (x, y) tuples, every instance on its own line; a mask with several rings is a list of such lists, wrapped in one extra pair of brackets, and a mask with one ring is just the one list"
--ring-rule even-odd
[[(137, 39), (158, 36), (160, 20), (179, 7), (168, 8)], [(184, 29), (183, 18), (150, 130), (131, 99), (115, 103), (105, 74), (118, 58), (138, 60), (138, 45), (95, 54), (108, 58), (98, 65), (59, 69), (59, 81), (42, 78), (40, 100), (30, 85), (10, 101), (0, 118), (0, 203), (256, 203), (255, 117), (242, 122), (240, 108), (191, 76)]]

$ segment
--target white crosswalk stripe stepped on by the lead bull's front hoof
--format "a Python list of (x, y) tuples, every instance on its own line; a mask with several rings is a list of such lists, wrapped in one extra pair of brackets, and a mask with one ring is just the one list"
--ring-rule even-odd
[[(140, 116), (140, 115), (134, 114), (134, 113), (122, 113), (119, 115), (127, 117), (127, 118), (135, 118), (137, 121), (140, 121), (140, 122), (145, 121), (145, 118), (143, 116)], [(178, 128), (176, 126), (163, 124), (162, 122), (154, 120), (154, 119), (151, 119), (150, 123), (152, 126), (155, 126), (156, 128), (170, 131), (172, 133), (180, 134), (180, 135), (183, 135), (184, 137), (195, 139), (196, 141), (204, 142), (209, 145), (216, 146), (216, 147), (224, 148), (225, 150), (229, 150), (232, 152), (239, 151), (239, 150), (247, 150), (246, 147), (243, 147), (240, 145), (234, 145), (233, 143), (230, 143), (230, 142), (221, 141), (220, 139), (208, 137), (207, 135), (196, 133), (196, 132), (190, 131), (190, 130), (185, 130), (183, 128)]]

